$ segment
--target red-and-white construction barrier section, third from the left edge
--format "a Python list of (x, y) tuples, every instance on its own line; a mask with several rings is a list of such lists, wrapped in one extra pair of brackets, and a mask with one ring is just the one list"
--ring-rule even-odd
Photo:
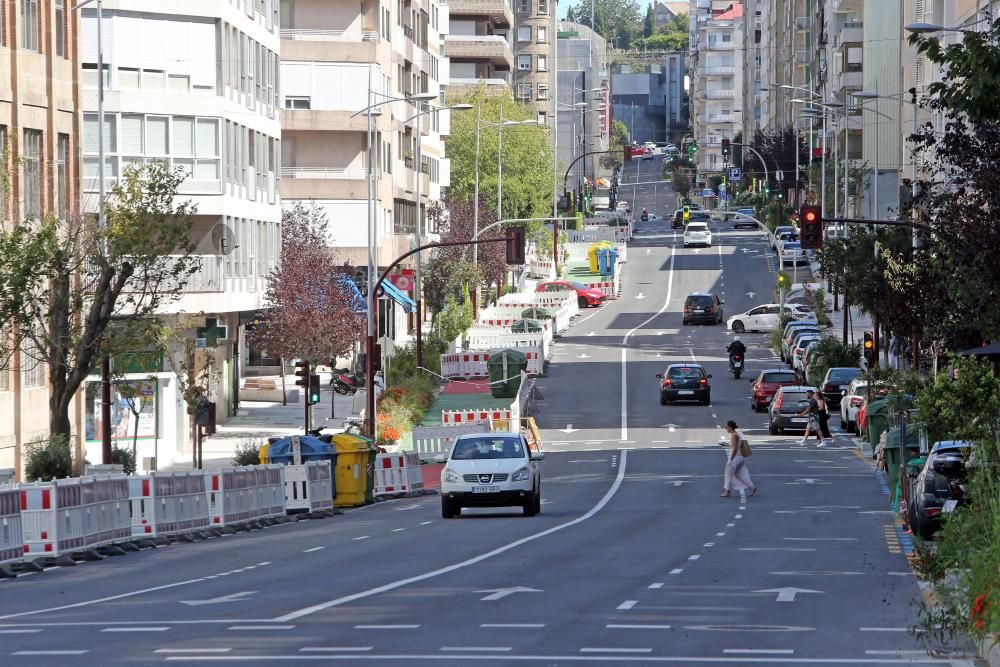
[(166, 537), (208, 528), (205, 482), (201, 471), (151, 472), (129, 479), (133, 537)]

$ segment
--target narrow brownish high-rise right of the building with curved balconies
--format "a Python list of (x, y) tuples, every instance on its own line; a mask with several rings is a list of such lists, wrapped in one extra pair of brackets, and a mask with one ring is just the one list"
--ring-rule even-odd
[(514, 0), (514, 92), (546, 125), (555, 109), (556, 0)]

